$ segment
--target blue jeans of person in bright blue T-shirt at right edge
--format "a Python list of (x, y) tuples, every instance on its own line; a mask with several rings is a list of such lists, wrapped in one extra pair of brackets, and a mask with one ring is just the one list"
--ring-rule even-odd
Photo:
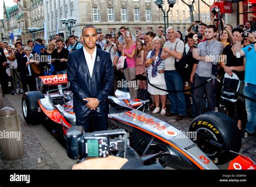
[[(245, 83), (244, 95), (247, 97), (256, 98), (256, 85)], [(256, 103), (245, 99), (245, 106), (247, 112), (247, 124), (245, 130), (249, 133), (254, 133), (256, 128)]]

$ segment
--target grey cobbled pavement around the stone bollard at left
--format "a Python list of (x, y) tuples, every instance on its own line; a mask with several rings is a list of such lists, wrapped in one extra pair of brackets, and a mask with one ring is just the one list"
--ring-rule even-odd
[(19, 113), (25, 154), (20, 159), (8, 161), (2, 160), (0, 150), (0, 169), (70, 169), (77, 161), (68, 158), (58, 141), (42, 125), (25, 123), (21, 98), (22, 95), (5, 95), (3, 101), (4, 106), (10, 106)]

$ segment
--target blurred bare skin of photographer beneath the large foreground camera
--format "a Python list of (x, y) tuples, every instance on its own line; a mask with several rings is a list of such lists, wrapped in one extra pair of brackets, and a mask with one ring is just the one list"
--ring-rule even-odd
[(72, 169), (120, 169), (127, 161), (127, 159), (110, 155), (105, 158), (86, 159), (75, 164)]

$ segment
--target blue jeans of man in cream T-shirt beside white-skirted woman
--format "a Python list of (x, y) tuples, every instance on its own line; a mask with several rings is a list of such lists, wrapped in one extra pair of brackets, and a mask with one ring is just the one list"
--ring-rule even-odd
[[(176, 70), (165, 70), (164, 78), (167, 90), (183, 90), (183, 78)], [(186, 102), (184, 92), (169, 93), (168, 97), (171, 101), (170, 111), (180, 116), (185, 116)]]

